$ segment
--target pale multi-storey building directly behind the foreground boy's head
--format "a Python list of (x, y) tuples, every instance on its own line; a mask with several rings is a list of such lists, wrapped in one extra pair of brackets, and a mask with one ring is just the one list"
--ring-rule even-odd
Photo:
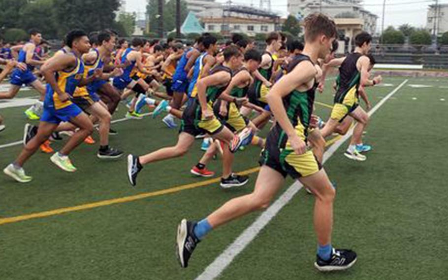
[[(356, 30), (351, 29), (349, 34), (356, 35), (361, 31), (366, 31), (373, 35), (376, 33), (378, 16), (365, 10), (361, 2), (361, 0), (288, 0), (288, 13), (306, 17), (311, 13), (322, 12), (334, 18), (336, 24), (338, 22), (336, 19), (350, 19), (340, 20), (356, 22)], [(348, 31), (345, 28), (345, 25), (341, 28), (338, 26), (340, 31)]]

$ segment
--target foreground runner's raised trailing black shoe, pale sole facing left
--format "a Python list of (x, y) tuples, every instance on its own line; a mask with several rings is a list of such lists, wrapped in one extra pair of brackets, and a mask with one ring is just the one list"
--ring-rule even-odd
[(181, 267), (188, 267), (188, 261), (200, 240), (194, 235), (195, 222), (183, 219), (177, 226), (176, 255)]

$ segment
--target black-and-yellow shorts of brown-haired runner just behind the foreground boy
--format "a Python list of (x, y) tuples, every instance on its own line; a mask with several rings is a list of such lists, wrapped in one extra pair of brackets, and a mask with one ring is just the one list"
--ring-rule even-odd
[[(212, 110), (212, 106), (208, 105)], [(213, 116), (212, 119), (205, 120), (202, 118), (201, 106), (197, 102), (188, 105), (182, 115), (181, 127), (179, 133), (185, 132), (192, 136), (201, 134), (213, 135), (221, 132), (224, 125)]]

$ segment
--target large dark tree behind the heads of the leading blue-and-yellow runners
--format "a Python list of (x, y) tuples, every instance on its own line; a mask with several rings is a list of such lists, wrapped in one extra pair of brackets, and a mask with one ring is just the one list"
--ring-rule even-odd
[(103, 30), (115, 25), (115, 11), (119, 0), (56, 0), (56, 19), (60, 24), (58, 35), (72, 29), (86, 32)]

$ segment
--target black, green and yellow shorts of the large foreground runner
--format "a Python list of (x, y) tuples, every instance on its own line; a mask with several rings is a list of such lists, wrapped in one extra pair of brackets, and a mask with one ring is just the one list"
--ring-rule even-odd
[(279, 125), (269, 132), (259, 164), (269, 166), (284, 177), (289, 175), (294, 179), (313, 175), (322, 169), (313, 151), (307, 150), (304, 154), (297, 155), (292, 150), (286, 133)]

